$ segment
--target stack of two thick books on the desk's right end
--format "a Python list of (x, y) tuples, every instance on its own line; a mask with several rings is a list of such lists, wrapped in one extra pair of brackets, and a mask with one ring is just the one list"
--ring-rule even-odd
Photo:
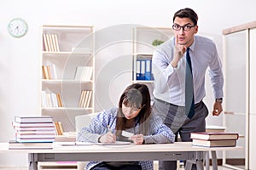
[(192, 144), (205, 147), (235, 147), (238, 133), (201, 132), (191, 133)]

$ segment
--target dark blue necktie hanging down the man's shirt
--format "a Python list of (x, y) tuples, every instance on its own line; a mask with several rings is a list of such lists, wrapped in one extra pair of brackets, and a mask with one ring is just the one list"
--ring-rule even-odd
[(189, 48), (186, 52), (185, 113), (191, 119), (195, 115), (194, 83)]

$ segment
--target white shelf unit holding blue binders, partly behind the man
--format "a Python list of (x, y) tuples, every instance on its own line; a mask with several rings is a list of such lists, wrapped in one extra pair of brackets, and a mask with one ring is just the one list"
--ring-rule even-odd
[(154, 43), (166, 42), (170, 39), (173, 36), (172, 28), (135, 27), (132, 36), (132, 82), (146, 84), (153, 101), (154, 77), (151, 61), (154, 50), (157, 48)]

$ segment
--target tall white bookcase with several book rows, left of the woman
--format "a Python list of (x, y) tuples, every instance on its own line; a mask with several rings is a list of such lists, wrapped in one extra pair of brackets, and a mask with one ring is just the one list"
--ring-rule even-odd
[(75, 132), (75, 116), (94, 112), (93, 33), (93, 26), (42, 26), (40, 112), (64, 132)]

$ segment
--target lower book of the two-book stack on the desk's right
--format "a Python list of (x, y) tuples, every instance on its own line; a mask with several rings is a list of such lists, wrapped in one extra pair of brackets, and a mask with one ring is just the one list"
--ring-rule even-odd
[(236, 139), (229, 140), (202, 140), (202, 139), (193, 139), (192, 145), (195, 146), (204, 146), (204, 147), (235, 147)]

